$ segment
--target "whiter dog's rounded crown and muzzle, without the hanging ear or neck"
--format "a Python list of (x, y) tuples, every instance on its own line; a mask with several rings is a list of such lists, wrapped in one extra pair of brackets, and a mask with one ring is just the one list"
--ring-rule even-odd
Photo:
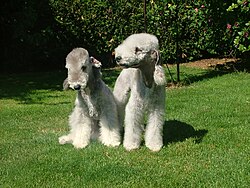
[[(139, 33), (129, 36), (115, 49), (115, 61), (125, 68), (138, 68), (142, 64), (158, 62), (158, 39), (154, 35)], [(157, 53), (157, 54), (156, 54)]]

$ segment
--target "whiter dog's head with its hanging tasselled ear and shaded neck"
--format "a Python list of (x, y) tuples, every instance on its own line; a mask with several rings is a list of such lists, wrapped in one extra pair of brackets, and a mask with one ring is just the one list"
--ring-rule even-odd
[[(160, 52), (158, 39), (154, 35), (140, 33), (129, 36), (115, 49), (117, 64), (125, 68), (138, 68), (144, 84), (151, 88), (155, 82), (164, 84), (164, 74), (159, 68)], [(157, 70), (157, 71), (156, 71)], [(159, 74), (161, 72), (161, 74)]]

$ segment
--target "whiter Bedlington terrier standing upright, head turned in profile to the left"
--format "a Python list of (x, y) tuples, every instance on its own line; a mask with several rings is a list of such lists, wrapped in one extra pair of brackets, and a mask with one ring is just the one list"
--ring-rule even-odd
[(159, 151), (163, 146), (166, 78), (158, 46), (154, 35), (139, 33), (129, 36), (115, 49), (116, 62), (125, 67), (116, 80), (113, 93), (119, 122), (125, 124), (123, 145), (126, 150), (139, 148), (145, 114), (148, 120), (146, 147)]

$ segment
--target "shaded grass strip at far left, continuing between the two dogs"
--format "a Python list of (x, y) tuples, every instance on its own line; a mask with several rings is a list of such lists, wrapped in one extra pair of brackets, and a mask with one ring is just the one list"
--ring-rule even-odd
[[(119, 70), (103, 70), (103, 79), (110, 87), (118, 77)], [(34, 91), (62, 91), (62, 84), (67, 77), (67, 71), (23, 73), (0, 75), (0, 99), (14, 99), (24, 104), (40, 104), (44, 98), (57, 97), (41, 91), (33, 96)]]

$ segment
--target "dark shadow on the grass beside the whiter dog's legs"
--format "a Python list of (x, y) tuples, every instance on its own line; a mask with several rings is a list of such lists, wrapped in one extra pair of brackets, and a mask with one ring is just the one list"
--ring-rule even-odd
[(183, 142), (188, 138), (194, 138), (195, 143), (202, 142), (203, 137), (208, 133), (208, 130), (201, 129), (195, 130), (191, 125), (177, 121), (165, 121), (163, 128), (163, 142), (168, 145), (173, 142)]

